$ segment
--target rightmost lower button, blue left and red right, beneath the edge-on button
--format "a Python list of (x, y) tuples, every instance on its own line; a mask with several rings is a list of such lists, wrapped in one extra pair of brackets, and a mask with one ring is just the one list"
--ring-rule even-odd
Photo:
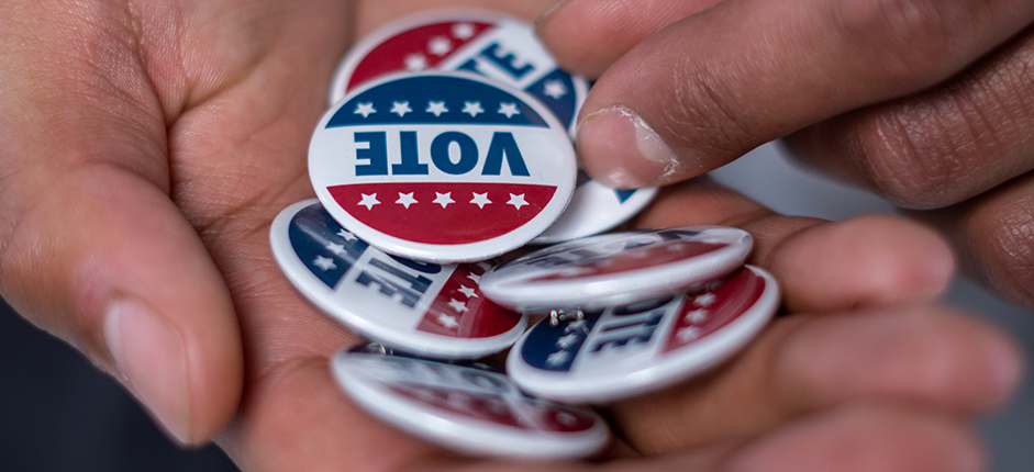
[(521, 389), (562, 402), (608, 403), (690, 379), (740, 351), (779, 306), (775, 279), (746, 266), (677, 295), (540, 322), (507, 358)]

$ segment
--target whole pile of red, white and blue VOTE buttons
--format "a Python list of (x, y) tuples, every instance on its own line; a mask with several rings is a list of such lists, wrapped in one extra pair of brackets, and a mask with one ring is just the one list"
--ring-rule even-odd
[[(472, 454), (589, 456), (609, 432), (578, 405), (685, 381), (771, 317), (745, 232), (592, 236), (656, 189), (577, 168), (587, 91), (530, 24), (479, 10), (403, 19), (343, 59), (310, 143), (319, 200), (283, 210), (270, 241), (303, 295), (375, 342), (332, 362), (370, 414)], [(546, 316), (526, 330), (531, 315)], [(507, 373), (477, 362), (511, 346)]]

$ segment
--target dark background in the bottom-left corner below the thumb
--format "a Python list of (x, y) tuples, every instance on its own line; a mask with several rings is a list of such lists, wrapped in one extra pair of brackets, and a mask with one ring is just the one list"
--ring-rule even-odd
[(113, 379), (0, 300), (0, 471), (236, 471), (174, 446)]

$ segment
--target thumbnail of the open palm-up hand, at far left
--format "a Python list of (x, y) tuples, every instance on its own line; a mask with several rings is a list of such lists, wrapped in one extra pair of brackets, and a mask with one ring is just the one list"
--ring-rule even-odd
[(187, 352), (179, 330), (144, 304), (122, 300), (108, 310), (104, 336), (136, 397), (170, 435), (188, 443)]

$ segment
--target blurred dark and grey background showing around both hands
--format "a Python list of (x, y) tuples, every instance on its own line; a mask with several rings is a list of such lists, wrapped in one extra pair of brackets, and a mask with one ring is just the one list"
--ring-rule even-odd
[[(787, 214), (838, 220), (893, 213), (886, 202), (802, 172), (774, 145), (712, 172), (715, 180)], [(845, 267), (844, 270), (850, 270)], [(966, 280), (946, 303), (990, 319), (1019, 340), (1030, 364), (1034, 313)], [(991, 470), (1034, 465), (1034, 381), (1027, 375), (1002, 411), (980, 422)], [(0, 301), (0, 471), (236, 471), (215, 447), (185, 451), (157, 430), (114, 381)]]

